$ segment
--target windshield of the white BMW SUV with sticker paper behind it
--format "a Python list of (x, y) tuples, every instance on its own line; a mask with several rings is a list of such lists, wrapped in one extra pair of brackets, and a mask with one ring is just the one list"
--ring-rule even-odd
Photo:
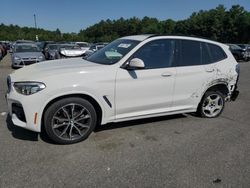
[(136, 40), (118, 39), (89, 56), (87, 60), (106, 65), (114, 64), (139, 43)]

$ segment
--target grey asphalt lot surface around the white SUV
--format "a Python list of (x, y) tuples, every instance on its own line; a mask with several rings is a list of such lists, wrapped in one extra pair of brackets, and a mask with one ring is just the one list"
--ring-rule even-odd
[(81, 143), (55, 145), (12, 125), (0, 62), (0, 188), (250, 187), (250, 62), (240, 95), (216, 119), (188, 115), (108, 124)]

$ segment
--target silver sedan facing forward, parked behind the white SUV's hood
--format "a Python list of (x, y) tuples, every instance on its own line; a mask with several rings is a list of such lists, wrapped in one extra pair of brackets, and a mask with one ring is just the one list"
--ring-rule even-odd
[(15, 44), (12, 55), (12, 68), (21, 68), (26, 65), (44, 61), (44, 55), (35, 43)]

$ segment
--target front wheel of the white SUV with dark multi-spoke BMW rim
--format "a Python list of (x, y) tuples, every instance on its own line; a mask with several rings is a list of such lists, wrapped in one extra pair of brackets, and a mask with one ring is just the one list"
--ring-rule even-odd
[(78, 97), (64, 98), (45, 111), (44, 128), (48, 137), (58, 144), (85, 140), (97, 124), (93, 105)]

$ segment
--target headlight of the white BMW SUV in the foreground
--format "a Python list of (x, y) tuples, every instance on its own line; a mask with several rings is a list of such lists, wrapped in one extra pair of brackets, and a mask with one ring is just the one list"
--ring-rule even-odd
[(15, 82), (15, 90), (22, 95), (32, 95), (46, 88), (41, 82)]

